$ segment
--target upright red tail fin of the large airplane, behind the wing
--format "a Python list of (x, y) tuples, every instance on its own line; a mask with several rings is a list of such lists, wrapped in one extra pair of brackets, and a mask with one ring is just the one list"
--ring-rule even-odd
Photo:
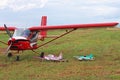
[[(47, 16), (42, 16), (41, 19), (41, 27), (46, 27), (47, 25)], [(41, 36), (41, 40), (44, 40), (44, 38), (47, 36), (47, 31), (46, 30), (42, 30), (40, 32), (40, 36)]]

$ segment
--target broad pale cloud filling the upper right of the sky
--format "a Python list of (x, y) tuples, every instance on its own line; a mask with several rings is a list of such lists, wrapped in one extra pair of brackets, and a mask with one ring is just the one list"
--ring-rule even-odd
[[(88, 16), (111, 16), (120, 11), (120, 0), (51, 0), (50, 6)], [(69, 13), (70, 14), (70, 13)]]

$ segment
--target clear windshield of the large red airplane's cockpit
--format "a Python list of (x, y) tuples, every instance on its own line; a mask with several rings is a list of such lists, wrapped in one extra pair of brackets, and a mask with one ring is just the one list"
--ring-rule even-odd
[(13, 37), (28, 37), (30, 35), (30, 30), (18, 28), (15, 30)]

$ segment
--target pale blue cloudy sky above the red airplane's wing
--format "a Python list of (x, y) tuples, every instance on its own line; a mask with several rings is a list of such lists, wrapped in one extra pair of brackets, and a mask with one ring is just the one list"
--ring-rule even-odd
[(0, 0), (0, 26), (48, 25), (119, 22), (120, 0)]

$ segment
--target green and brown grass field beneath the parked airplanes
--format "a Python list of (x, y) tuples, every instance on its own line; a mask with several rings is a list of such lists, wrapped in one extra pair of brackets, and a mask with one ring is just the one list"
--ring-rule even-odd
[[(7, 41), (7, 38), (0, 34), (0, 40)], [(62, 51), (69, 62), (40, 62), (33, 58), (39, 54), (32, 51), (24, 51), (20, 55), (21, 61), (16, 62), (15, 56), (8, 59), (3, 54), (5, 48), (0, 44), (0, 80), (120, 80), (120, 31), (76, 30), (36, 50), (56, 55)], [(90, 53), (94, 55), (94, 61), (73, 58)]]

